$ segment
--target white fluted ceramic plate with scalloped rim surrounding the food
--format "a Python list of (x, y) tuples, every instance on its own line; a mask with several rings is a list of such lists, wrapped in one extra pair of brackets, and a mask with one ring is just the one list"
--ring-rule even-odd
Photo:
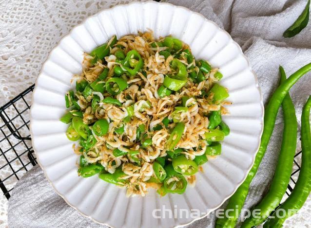
[[(189, 44), (196, 59), (207, 59), (224, 75), (231, 113), (223, 117), (231, 133), (222, 142), (222, 154), (204, 164), (195, 187), (184, 194), (160, 197), (150, 190), (145, 197), (127, 198), (125, 189), (92, 176), (77, 175), (78, 156), (65, 136), (67, 124), (64, 94), (74, 85), (70, 79), (81, 71), (83, 52), (90, 52), (112, 35), (121, 37), (151, 29), (155, 36), (174, 35)], [(43, 64), (31, 107), (31, 136), (46, 178), (57, 193), (80, 213), (112, 227), (163, 227), (185, 225), (206, 216), (230, 197), (245, 179), (259, 146), (263, 127), (262, 96), (248, 60), (231, 36), (214, 22), (186, 8), (167, 3), (143, 2), (103, 10), (75, 27), (61, 39)], [(192, 210), (196, 218), (157, 219), (154, 209)], [(159, 212), (156, 212), (159, 215)]]

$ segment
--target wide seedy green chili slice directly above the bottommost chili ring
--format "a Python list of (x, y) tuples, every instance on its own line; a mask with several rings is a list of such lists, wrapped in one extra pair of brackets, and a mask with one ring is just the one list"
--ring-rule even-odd
[(194, 175), (197, 172), (197, 164), (184, 155), (180, 155), (172, 160), (173, 168), (182, 175)]

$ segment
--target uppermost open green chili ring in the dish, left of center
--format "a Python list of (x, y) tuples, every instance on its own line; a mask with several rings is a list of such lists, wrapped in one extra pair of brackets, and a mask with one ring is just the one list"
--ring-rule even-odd
[(126, 54), (123, 68), (131, 75), (136, 75), (143, 66), (144, 61), (136, 50), (129, 51)]

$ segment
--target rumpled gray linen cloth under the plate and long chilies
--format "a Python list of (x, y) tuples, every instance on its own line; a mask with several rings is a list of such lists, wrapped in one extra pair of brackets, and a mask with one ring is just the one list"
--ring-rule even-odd
[[(278, 85), (279, 65), (284, 67), (289, 76), (311, 62), (311, 23), (293, 38), (282, 36), (303, 11), (307, 0), (166, 0), (166, 2), (201, 13), (232, 35), (242, 47), (258, 76), (265, 105)], [(290, 91), (298, 125), (302, 106), (311, 93), (310, 88), (311, 73), (301, 78)], [(257, 204), (268, 190), (277, 162), (282, 130), (280, 111), (268, 150), (253, 179), (244, 208), (250, 209)], [(299, 139), (299, 135), (297, 138)], [(221, 208), (226, 204), (227, 202)], [(67, 205), (54, 192), (39, 166), (21, 178), (13, 190), (9, 200), (8, 222), (11, 228), (101, 227)], [(210, 216), (195, 221), (188, 227), (212, 228), (214, 222), (215, 217)]]

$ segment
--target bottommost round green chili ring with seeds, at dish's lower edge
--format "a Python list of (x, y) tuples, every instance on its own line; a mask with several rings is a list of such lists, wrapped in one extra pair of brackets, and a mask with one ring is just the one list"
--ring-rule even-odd
[(175, 174), (171, 177), (166, 177), (164, 179), (164, 189), (165, 192), (167, 193), (182, 194), (185, 192), (186, 187), (187, 187), (187, 180), (181, 174)]

